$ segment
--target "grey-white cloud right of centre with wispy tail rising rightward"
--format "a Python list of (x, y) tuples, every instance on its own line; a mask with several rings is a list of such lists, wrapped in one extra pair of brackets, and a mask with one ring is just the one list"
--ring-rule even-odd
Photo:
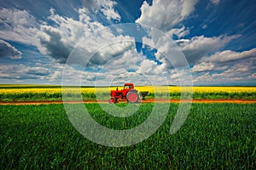
[[(143, 43), (157, 49), (157, 53), (155, 54), (156, 59), (161, 63), (164, 63), (166, 69), (195, 64), (202, 57), (216, 52), (219, 48), (223, 48), (232, 39), (240, 37), (240, 35), (192, 37), (191, 39), (177, 40), (176, 46), (169, 37), (163, 36), (158, 31), (152, 30), (151, 32), (148, 32), (148, 35), (149, 37), (143, 37)], [(202, 66), (203, 65), (198, 65), (196, 69), (202, 71)], [(213, 65), (210, 68), (213, 68)]]

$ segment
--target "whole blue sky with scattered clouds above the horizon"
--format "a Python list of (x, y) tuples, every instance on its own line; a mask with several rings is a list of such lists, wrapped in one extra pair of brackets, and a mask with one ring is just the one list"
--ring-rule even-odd
[(0, 83), (256, 85), (251, 0), (0, 0)]

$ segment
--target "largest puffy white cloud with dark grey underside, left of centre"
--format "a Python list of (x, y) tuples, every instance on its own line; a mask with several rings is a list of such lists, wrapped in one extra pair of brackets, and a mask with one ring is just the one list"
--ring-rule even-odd
[[(41, 26), (41, 32), (38, 34), (41, 42), (41, 47), (39, 47), (40, 52), (42, 54), (48, 54), (58, 62), (64, 64), (73, 48), (78, 45), (76, 50), (80, 50), (81, 52), (75, 52), (79, 57), (73, 62), (82, 63), (83, 58), (92, 58), (94, 54), (94, 58), (90, 60), (90, 64), (101, 65), (106, 60), (124, 54), (127, 49), (135, 46), (134, 39), (114, 35), (108, 27), (103, 26), (98, 21), (92, 20), (88, 13), (87, 8), (79, 8), (79, 20), (73, 20), (72, 18), (55, 14), (55, 11), (51, 9), (49, 20), (54, 22), (54, 26)], [(100, 35), (97, 35), (97, 33), (94, 34), (102, 29), (104, 29), (104, 32), (101, 31)], [(81, 42), (85, 37), (86, 42)], [(130, 42), (120, 42), (122, 39), (128, 39)], [(106, 42), (119, 43), (104, 47)], [(102, 49), (103, 47), (104, 49)], [(101, 51), (97, 52), (99, 50)]]

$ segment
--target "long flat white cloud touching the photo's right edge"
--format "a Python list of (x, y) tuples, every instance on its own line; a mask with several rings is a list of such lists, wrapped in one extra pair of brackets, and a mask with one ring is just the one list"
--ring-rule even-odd
[(248, 51), (242, 51), (242, 52), (225, 50), (225, 51), (213, 54), (209, 58), (209, 60), (212, 62), (228, 62), (228, 61), (234, 61), (238, 59), (246, 59), (249, 57), (256, 57), (256, 48), (250, 49)]

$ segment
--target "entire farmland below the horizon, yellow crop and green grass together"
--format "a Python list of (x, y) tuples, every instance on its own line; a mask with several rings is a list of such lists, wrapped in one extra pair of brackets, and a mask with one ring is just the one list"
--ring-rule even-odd
[[(255, 169), (255, 87), (193, 87), (194, 103), (189, 116), (172, 135), (169, 130), (180, 99), (179, 87), (155, 87), (160, 94), (155, 94), (152, 87), (136, 87), (149, 93), (139, 110), (125, 118), (110, 116), (97, 104), (97, 99), (108, 101), (109, 91), (115, 88), (70, 87), (69, 99), (81, 95), (87, 101), (85, 106), (90, 116), (105, 127), (130, 129), (150, 115), (154, 106), (150, 103), (152, 99), (163, 102), (167, 96), (169, 100), (165, 101), (172, 100), (170, 110), (156, 133), (127, 147), (102, 146), (84, 138), (69, 122), (63, 105), (55, 105), (62, 103), (61, 86), (1, 85), (0, 167)], [(236, 101), (247, 104), (236, 104)], [(17, 103), (20, 105), (15, 105)], [(101, 105), (111, 107), (105, 103)], [(121, 101), (116, 105), (125, 107), (126, 104)]]

